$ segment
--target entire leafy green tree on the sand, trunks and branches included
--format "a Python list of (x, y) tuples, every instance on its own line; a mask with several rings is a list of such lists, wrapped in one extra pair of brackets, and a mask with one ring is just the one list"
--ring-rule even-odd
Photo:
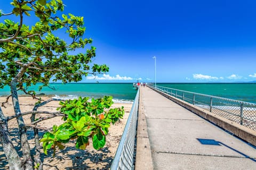
[[(13, 0), (11, 5), (13, 10), (10, 13), (0, 11), (1, 18), (12, 18), (13, 15), (19, 18), (19, 22), (5, 19), (0, 23), (0, 88), (10, 86), (11, 95), (6, 98), (6, 102), (11, 97), (14, 108), (14, 115), (7, 117), (0, 107), (0, 139), (10, 169), (42, 169), (39, 142), (43, 143), (45, 154), (50, 148), (54, 153), (56, 147), (63, 149), (63, 143), (73, 139), (79, 149), (86, 148), (89, 138), (92, 138), (95, 149), (102, 148), (110, 123), (114, 124), (124, 114), (123, 108), (110, 109), (113, 104), (111, 97), (92, 99), (90, 102), (88, 98), (79, 97), (60, 102), (61, 107), (57, 112), (39, 112), (38, 107), (53, 99), (41, 101), (35, 91), (28, 90), (36, 83), (42, 83), (42, 89), (49, 86), (50, 80), (77, 82), (88, 74), (108, 72), (109, 68), (105, 64), (90, 65), (95, 57), (95, 47), (86, 49), (85, 53), (75, 54), (76, 49), (83, 49), (92, 43), (92, 39), (83, 39), (83, 17), (62, 14), (64, 5), (61, 0)], [(37, 18), (38, 21), (33, 26), (26, 25), (25, 18), (29, 17)], [(68, 40), (56, 36), (61, 35), (61, 31), (69, 36)], [(17, 91), (38, 99), (33, 111), (21, 113)], [(35, 116), (39, 113), (51, 116), (36, 120)], [(22, 116), (26, 114), (31, 114), (31, 124), (24, 123)], [(54, 125), (51, 130), (37, 126), (38, 122), (55, 116), (63, 116), (65, 123)], [(22, 156), (15, 150), (9, 134), (7, 122), (12, 118), (18, 122)], [(34, 128), (35, 157), (30, 154), (26, 134), (28, 127)], [(46, 130), (41, 140), (38, 129)]]

